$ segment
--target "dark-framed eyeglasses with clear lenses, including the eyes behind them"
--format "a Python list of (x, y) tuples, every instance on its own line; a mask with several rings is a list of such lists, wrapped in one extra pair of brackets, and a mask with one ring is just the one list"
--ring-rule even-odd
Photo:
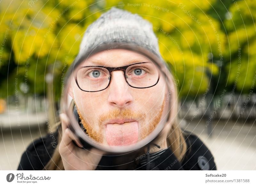
[(160, 78), (159, 70), (152, 62), (133, 63), (119, 67), (81, 66), (75, 75), (76, 84), (85, 92), (105, 90), (110, 85), (112, 72), (117, 70), (123, 71), (127, 84), (137, 89), (153, 87)]

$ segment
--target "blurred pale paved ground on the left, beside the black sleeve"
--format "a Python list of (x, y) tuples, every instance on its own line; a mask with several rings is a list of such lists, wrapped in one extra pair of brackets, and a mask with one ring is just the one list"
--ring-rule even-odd
[[(46, 134), (46, 113), (11, 110), (0, 114), (0, 170), (16, 170), (29, 143)], [(41, 129), (41, 130), (40, 130)]]

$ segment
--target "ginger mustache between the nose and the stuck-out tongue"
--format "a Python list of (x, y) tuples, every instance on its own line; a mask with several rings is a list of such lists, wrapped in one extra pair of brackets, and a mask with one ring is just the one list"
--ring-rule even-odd
[(131, 109), (114, 109), (99, 117), (99, 124), (102, 126), (106, 120), (113, 120), (119, 118), (145, 120), (146, 114), (142, 112), (133, 112)]

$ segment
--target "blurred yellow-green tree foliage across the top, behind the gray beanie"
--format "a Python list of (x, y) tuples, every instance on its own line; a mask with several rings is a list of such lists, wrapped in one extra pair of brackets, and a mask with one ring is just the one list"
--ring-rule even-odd
[[(218, 2), (4, 0), (0, 3), (0, 39), (4, 40), (8, 31), (5, 40), (10, 43), (11, 50), (3, 49), (2, 63), (8, 63), (12, 51), (15, 63), (20, 66), (28, 58), (31, 58), (30, 63), (45, 65), (43, 70), (40, 69), (41, 75), (44, 75), (48, 65), (55, 65), (58, 61), (61, 71), (65, 63), (70, 64), (76, 57), (86, 28), (103, 12), (115, 6), (137, 13), (152, 23), (160, 52), (164, 60), (172, 65), (175, 78), (179, 80), (181, 96), (204, 93), (209, 86), (209, 73), (213, 76), (220, 73), (223, 58), (231, 59), (226, 70), (232, 73), (228, 76), (228, 82), (234, 82), (237, 60), (231, 56), (237, 55), (238, 48), (244, 48), (242, 55), (246, 63), (243, 78), (249, 82), (247, 78), (251, 77), (246, 75), (247, 69), (252, 71), (255, 67), (255, 62), (249, 61), (249, 58), (256, 58), (255, 24), (252, 21), (256, 17), (255, 1), (237, 1), (238, 7), (232, 3), (223, 25), (222, 20), (208, 13), (215, 3)], [(5, 4), (10, 5), (7, 8)], [(226, 31), (221, 27), (225, 27)], [(212, 62), (213, 58), (218, 64)], [(24, 74), (23, 71), (20, 73)], [(242, 88), (242, 83), (238, 87)]]

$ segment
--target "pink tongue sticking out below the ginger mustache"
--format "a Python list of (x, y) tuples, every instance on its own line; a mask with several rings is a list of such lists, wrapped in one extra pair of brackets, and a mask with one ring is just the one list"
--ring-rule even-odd
[(131, 145), (136, 143), (139, 127), (138, 122), (126, 122), (124, 124), (107, 124), (106, 139), (110, 146)]

